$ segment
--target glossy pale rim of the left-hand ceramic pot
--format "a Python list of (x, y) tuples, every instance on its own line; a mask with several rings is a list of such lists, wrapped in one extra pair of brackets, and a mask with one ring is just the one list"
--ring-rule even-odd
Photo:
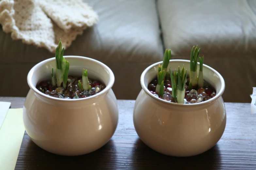
[[(78, 59), (85, 59), (85, 60), (89, 60), (89, 61), (92, 61), (94, 63), (97, 63), (99, 64), (101, 67), (104, 67), (104, 69), (109, 73), (110, 75), (110, 79), (109, 79), (109, 83), (108, 85), (106, 85), (105, 89), (97, 94), (94, 94), (92, 96), (89, 96), (89, 97), (85, 97), (85, 98), (78, 98), (78, 99), (62, 99), (62, 98), (56, 98), (56, 97), (52, 97), (52, 96), (49, 96), (49, 95), (46, 95), (42, 92), (40, 92), (32, 83), (32, 75), (34, 73), (34, 71), (48, 63), (48, 62), (51, 62), (53, 60), (55, 60), (55, 57), (53, 58), (49, 58), (49, 59), (46, 59), (46, 60), (43, 60), (41, 61), (40, 63), (34, 65), (30, 71), (28, 72), (28, 75), (27, 75), (27, 83), (28, 83), (28, 86), (30, 87), (30, 89), (32, 89), (35, 93), (37, 93), (38, 95), (44, 97), (44, 98), (48, 98), (48, 99), (51, 99), (51, 100), (55, 100), (55, 101), (63, 101), (63, 102), (76, 102), (76, 101), (82, 101), (82, 100), (90, 100), (92, 98), (97, 98), (101, 95), (104, 95), (105, 93), (107, 93), (111, 88), (112, 86), (114, 85), (114, 82), (115, 82), (115, 76), (114, 76), (114, 73), (112, 72), (112, 70), (105, 64), (103, 64), (102, 62), (98, 61), (98, 60), (95, 60), (95, 59), (92, 59), (92, 58), (88, 58), (88, 57), (83, 57), (83, 56), (75, 56), (75, 55), (66, 55), (66, 56), (63, 56), (65, 57), (65, 59), (67, 59), (68, 61), (68, 58), (78, 58)], [(38, 82), (37, 82), (38, 83)]]

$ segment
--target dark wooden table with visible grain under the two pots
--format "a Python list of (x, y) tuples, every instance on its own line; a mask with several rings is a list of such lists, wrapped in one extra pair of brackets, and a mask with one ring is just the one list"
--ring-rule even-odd
[[(19, 108), (24, 98), (0, 97)], [(40, 149), (25, 133), (15, 169), (230, 169), (256, 170), (256, 114), (250, 115), (250, 104), (225, 103), (227, 125), (219, 142), (197, 156), (165, 156), (147, 147), (133, 125), (134, 100), (119, 100), (117, 130), (101, 149), (83, 156), (59, 156)]]

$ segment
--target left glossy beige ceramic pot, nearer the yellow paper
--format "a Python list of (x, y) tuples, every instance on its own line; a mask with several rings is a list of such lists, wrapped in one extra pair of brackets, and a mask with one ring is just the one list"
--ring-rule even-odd
[(28, 73), (23, 119), (27, 134), (40, 148), (60, 155), (82, 155), (105, 145), (118, 124), (117, 99), (112, 91), (114, 74), (105, 64), (86, 57), (64, 56), (70, 63), (69, 75), (102, 81), (106, 88), (93, 96), (61, 99), (36, 89), (41, 80), (51, 79), (55, 58), (35, 65)]

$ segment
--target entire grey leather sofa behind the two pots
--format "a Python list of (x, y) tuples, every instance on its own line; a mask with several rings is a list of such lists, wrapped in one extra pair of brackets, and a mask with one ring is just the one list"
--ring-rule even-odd
[[(84, 0), (99, 22), (78, 36), (65, 55), (94, 58), (115, 75), (118, 99), (136, 99), (140, 75), (162, 61), (189, 60), (192, 46), (201, 48), (204, 64), (226, 83), (225, 102), (251, 102), (256, 86), (256, 1), (253, 0)], [(54, 57), (46, 49), (14, 41), (0, 29), (0, 96), (26, 96), (28, 71)]]

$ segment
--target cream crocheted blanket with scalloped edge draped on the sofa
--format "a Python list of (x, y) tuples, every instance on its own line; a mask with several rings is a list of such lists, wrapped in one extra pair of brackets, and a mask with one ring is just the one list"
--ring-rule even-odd
[(97, 13), (81, 0), (0, 1), (0, 24), (5, 33), (53, 53), (60, 39), (66, 49), (97, 21)]

